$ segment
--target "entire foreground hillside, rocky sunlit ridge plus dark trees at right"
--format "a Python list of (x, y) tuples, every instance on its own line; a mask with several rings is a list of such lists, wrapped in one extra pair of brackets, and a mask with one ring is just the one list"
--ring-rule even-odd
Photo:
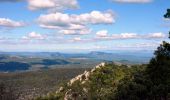
[(170, 100), (170, 44), (163, 41), (154, 55), (148, 65), (97, 66), (37, 100)]

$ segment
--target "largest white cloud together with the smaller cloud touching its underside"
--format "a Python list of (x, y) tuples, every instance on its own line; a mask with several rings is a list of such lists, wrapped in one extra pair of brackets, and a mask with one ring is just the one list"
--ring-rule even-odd
[(96, 24), (113, 24), (115, 16), (113, 12), (92, 11), (80, 15), (64, 14), (60, 12), (41, 15), (37, 22), (40, 27), (48, 29), (58, 29), (64, 34), (87, 34), (90, 29), (87, 27)]

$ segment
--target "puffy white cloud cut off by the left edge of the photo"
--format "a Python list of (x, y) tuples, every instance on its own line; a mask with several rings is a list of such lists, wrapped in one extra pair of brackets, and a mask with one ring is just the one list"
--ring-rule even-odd
[(13, 21), (8, 18), (0, 18), (0, 26), (2, 26), (2, 27), (22, 27), (22, 26), (25, 26), (25, 23)]

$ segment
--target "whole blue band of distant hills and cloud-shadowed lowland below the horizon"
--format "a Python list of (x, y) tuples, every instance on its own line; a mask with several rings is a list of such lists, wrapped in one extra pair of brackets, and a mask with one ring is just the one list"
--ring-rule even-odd
[(152, 52), (0, 52), (0, 72), (44, 69), (51, 67), (89, 67), (99, 62), (114, 61), (123, 64), (146, 64)]

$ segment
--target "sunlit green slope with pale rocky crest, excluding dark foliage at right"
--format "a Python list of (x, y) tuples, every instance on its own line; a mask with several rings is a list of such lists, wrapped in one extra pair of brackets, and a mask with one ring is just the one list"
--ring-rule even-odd
[(95, 67), (91, 71), (70, 80), (56, 93), (50, 93), (37, 100), (110, 100), (116, 98), (118, 86), (124, 80), (133, 79), (136, 72), (144, 70), (142, 66), (126, 66), (114, 63)]

